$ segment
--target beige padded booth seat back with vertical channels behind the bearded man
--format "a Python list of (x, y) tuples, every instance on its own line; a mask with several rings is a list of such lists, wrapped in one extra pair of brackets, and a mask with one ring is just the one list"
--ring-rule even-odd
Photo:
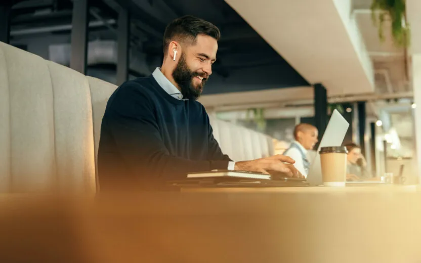
[[(0, 192), (95, 191), (101, 120), (115, 89), (0, 42)], [(234, 160), (273, 152), (255, 131), (212, 125)]]

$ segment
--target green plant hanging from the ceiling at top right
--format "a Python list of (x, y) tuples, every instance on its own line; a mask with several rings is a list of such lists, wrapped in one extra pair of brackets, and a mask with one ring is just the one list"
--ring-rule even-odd
[[(383, 25), (386, 19), (392, 21), (392, 37), (398, 47), (408, 47), (410, 40), (409, 24), (406, 20), (406, 0), (372, 0), (371, 18), (374, 25), (378, 26), (378, 37), (385, 40)], [(376, 11), (378, 17), (376, 17)], [(377, 24), (378, 22), (378, 24)]]

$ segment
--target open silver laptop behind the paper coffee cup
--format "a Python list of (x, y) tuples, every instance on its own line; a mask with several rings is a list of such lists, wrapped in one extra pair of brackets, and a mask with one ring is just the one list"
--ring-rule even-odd
[(320, 166), (320, 148), (329, 146), (341, 146), (349, 128), (348, 121), (339, 113), (333, 110), (329, 123), (324, 131), (323, 138), (320, 141), (316, 156), (310, 161), (310, 169), (307, 175), (307, 183), (310, 185), (322, 185), (322, 169)]

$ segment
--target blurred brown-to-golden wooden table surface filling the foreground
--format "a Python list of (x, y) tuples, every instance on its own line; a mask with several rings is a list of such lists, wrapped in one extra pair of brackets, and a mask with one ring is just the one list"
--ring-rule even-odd
[[(100, 203), (0, 199), (0, 259), (13, 249), (21, 257), (79, 255), (79, 262), (421, 259), (416, 186), (193, 190), (105, 196)], [(39, 218), (49, 218), (56, 231)], [(39, 238), (19, 241), (28, 236)]]

